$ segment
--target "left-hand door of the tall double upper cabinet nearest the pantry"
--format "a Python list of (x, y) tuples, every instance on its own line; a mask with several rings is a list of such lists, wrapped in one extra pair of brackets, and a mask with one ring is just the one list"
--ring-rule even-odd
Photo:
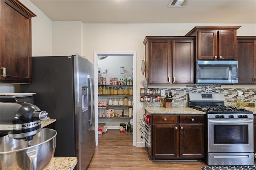
[(148, 40), (146, 45), (146, 78), (149, 84), (170, 84), (171, 54), (170, 40)]

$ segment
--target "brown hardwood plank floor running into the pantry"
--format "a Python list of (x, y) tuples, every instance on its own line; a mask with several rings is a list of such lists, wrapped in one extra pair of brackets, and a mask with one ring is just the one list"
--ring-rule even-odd
[(150, 161), (144, 147), (132, 146), (132, 133), (120, 134), (119, 130), (108, 130), (99, 135), (99, 145), (88, 166), (88, 170), (201, 170), (204, 162), (156, 162)]

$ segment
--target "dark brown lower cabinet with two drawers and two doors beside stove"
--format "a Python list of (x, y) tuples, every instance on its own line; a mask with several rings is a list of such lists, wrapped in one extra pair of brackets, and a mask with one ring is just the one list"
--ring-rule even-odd
[[(152, 114), (152, 160), (204, 158), (204, 115)], [(150, 152), (148, 152), (150, 153)]]

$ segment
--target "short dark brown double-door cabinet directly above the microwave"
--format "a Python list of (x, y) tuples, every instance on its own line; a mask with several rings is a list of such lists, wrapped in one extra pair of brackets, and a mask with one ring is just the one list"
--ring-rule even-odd
[(196, 59), (198, 60), (235, 60), (238, 28), (240, 26), (197, 26), (186, 36), (196, 36)]

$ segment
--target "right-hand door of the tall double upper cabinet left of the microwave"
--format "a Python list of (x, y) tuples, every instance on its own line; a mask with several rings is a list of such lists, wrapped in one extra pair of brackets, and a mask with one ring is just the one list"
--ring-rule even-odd
[(172, 41), (172, 83), (194, 83), (194, 41)]

